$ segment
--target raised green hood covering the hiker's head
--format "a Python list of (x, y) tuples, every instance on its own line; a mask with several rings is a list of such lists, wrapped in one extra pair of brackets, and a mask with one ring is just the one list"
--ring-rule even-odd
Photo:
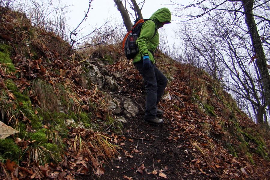
[(163, 7), (157, 10), (149, 19), (152, 19), (157, 24), (158, 28), (161, 27), (161, 22), (166, 22), (166, 24), (171, 23), (171, 12), (168, 8)]

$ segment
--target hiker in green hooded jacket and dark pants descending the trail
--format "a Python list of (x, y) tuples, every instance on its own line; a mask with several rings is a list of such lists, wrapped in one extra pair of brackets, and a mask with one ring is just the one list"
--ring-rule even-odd
[(167, 86), (168, 79), (156, 67), (154, 52), (159, 44), (159, 35), (156, 29), (171, 23), (171, 12), (164, 7), (157, 10), (149, 19), (151, 20), (143, 23), (140, 37), (136, 41), (139, 52), (133, 58), (133, 64), (145, 81), (146, 111), (143, 122), (162, 124), (163, 119), (159, 119), (157, 116), (164, 114), (164, 112), (159, 110), (157, 105)]

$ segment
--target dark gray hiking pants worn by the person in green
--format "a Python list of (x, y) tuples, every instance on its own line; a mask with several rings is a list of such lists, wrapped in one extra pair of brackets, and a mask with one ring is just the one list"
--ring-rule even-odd
[(161, 100), (168, 79), (158, 68), (152, 64), (150, 70), (143, 70), (143, 61), (134, 63), (145, 81), (146, 111), (144, 119), (157, 117), (157, 105)]

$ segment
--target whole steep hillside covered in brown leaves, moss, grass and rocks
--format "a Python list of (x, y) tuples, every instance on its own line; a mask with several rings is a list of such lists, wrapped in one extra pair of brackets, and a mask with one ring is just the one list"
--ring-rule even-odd
[(269, 134), (203, 70), (156, 52), (170, 82), (164, 124), (149, 126), (120, 44), (76, 52), (13, 11), (0, 29), (1, 122), (14, 129), (0, 140), (2, 179), (270, 176)]

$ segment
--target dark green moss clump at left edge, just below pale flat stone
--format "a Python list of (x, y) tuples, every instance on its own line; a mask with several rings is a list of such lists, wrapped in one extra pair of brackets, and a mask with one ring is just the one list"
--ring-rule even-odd
[(4, 140), (0, 140), (0, 153), (5, 154), (7, 158), (13, 159), (13, 160), (19, 160), (20, 157), (20, 148), (16, 143), (14, 143), (14, 140), (11, 138), (6, 138)]

